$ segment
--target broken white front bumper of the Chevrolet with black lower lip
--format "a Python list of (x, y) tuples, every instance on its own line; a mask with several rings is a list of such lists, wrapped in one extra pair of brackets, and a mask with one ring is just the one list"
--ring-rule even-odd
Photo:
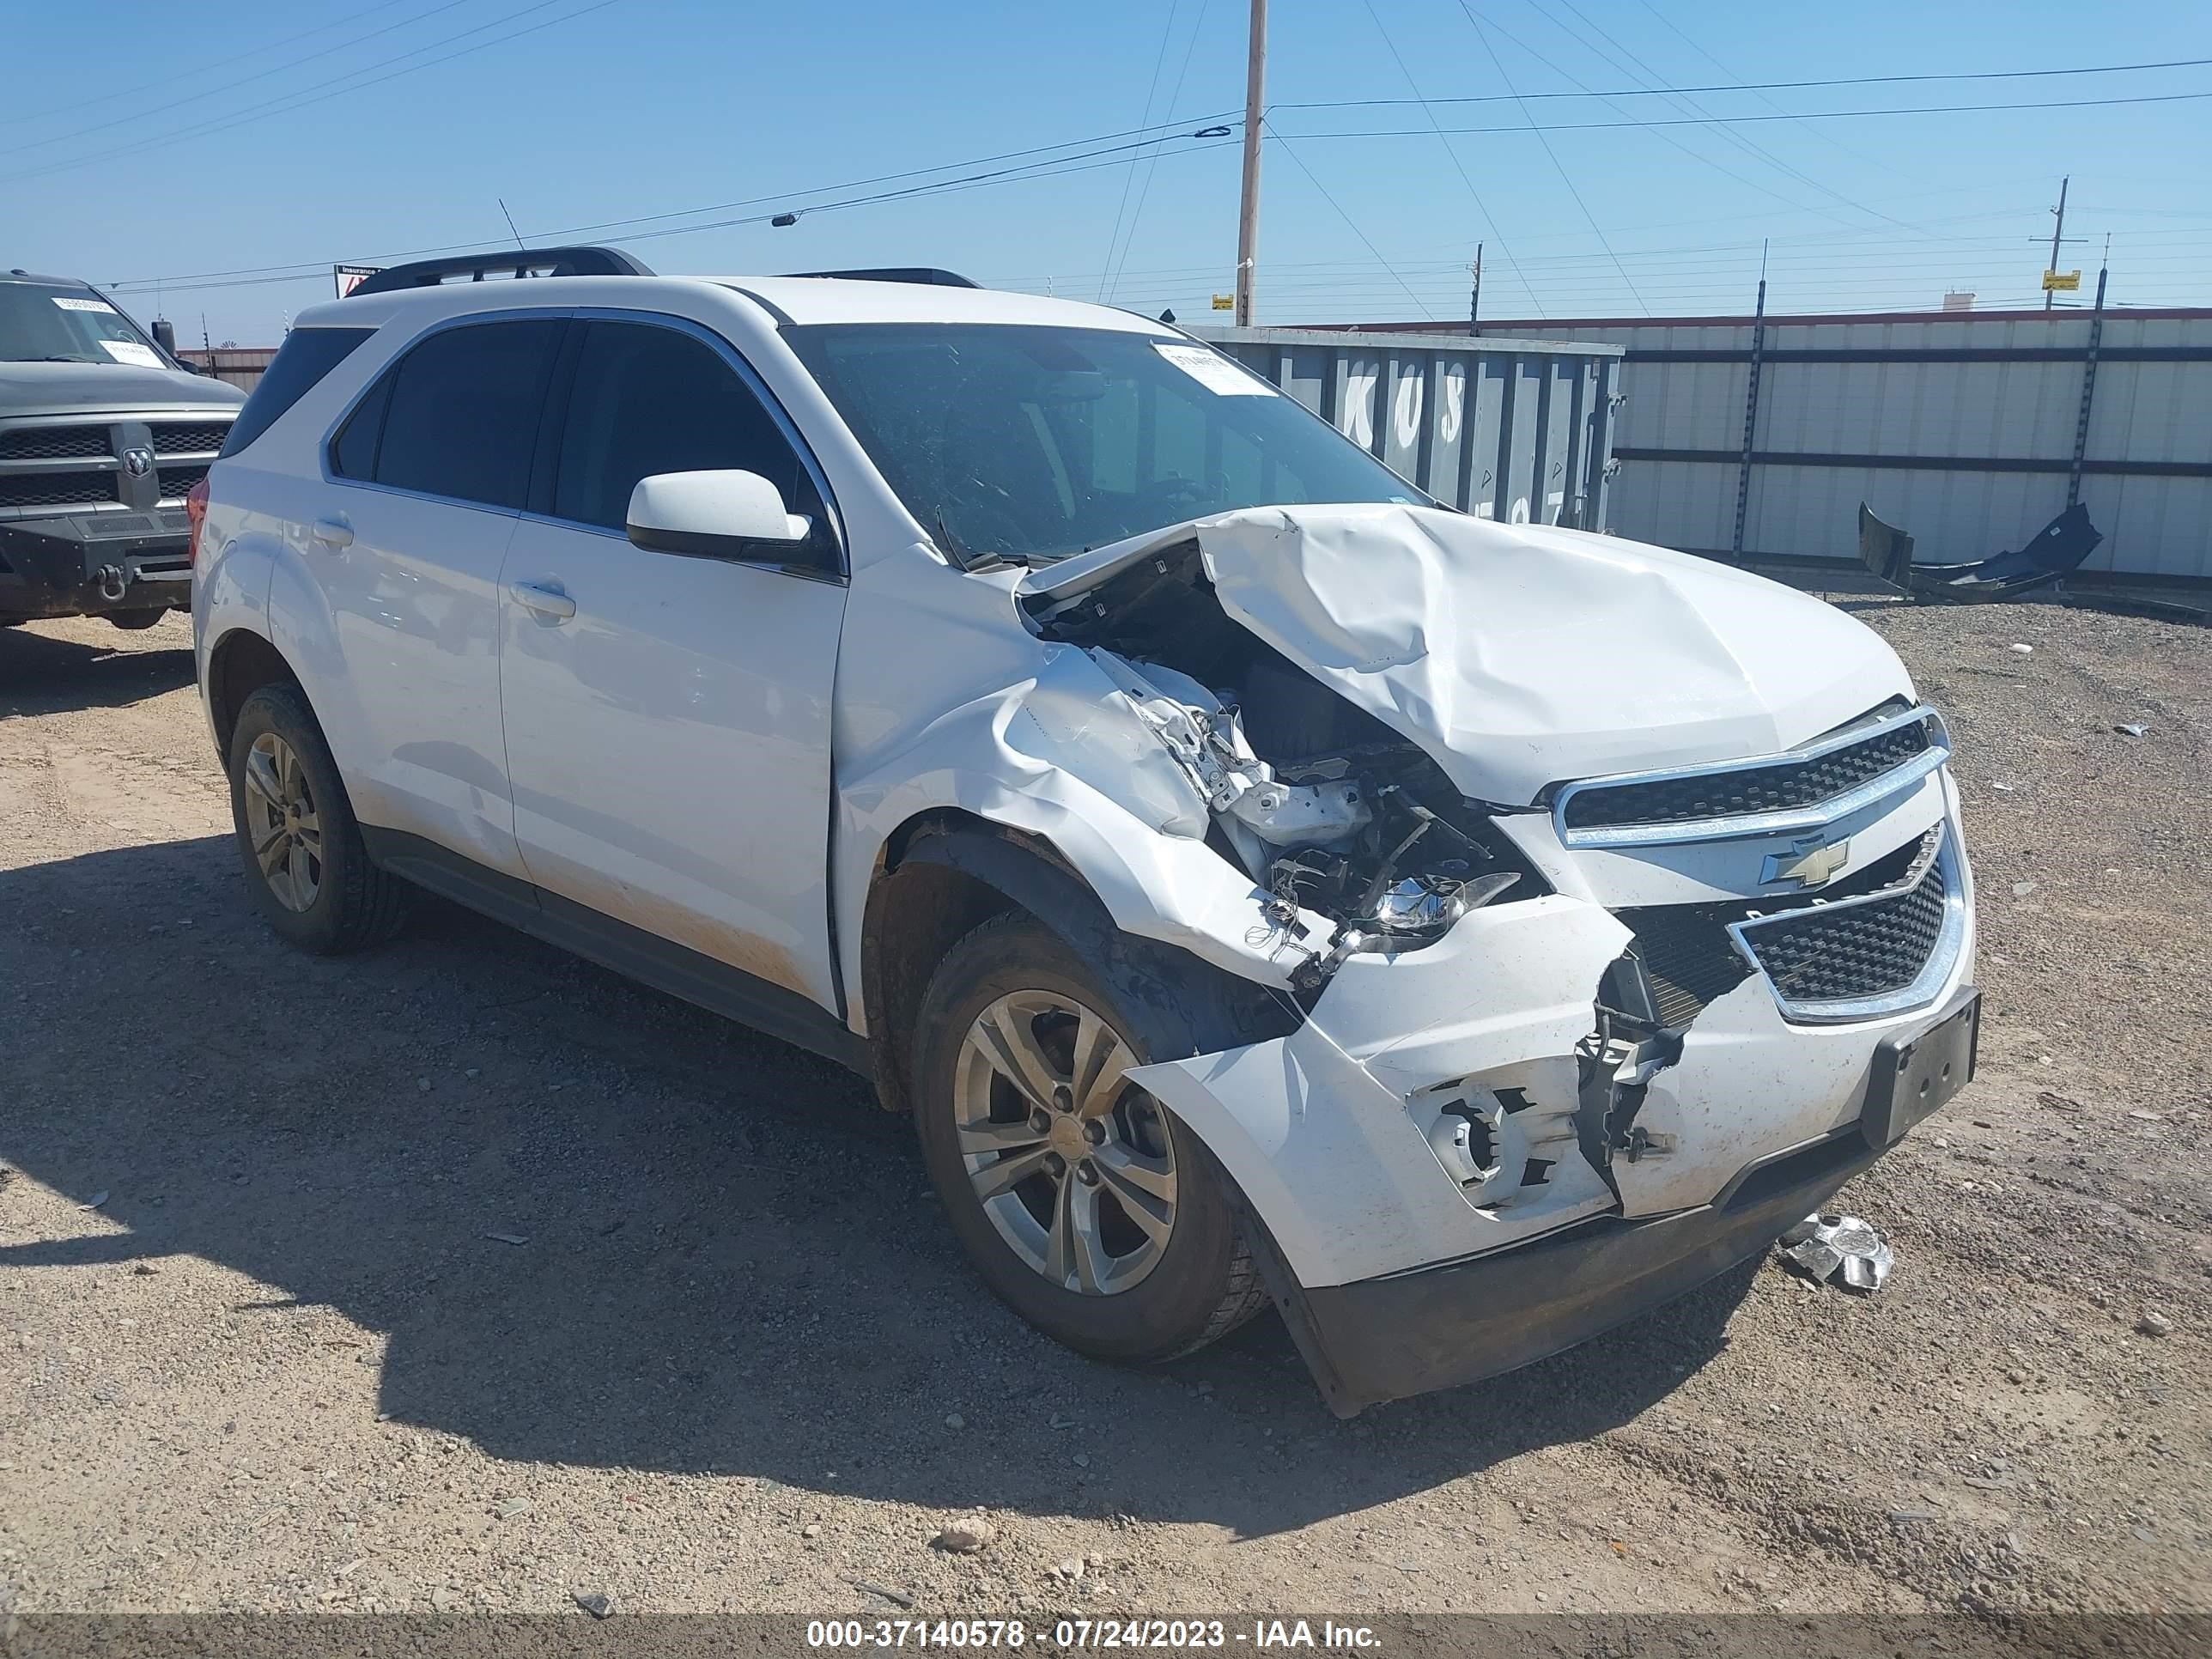
[[(1900, 1044), (1971, 998), (1962, 854), (1955, 876), (1958, 925), (1924, 1000), (1792, 1018), (1752, 973), (1639, 1084), (1632, 1150), (1593, 1119), (1577, 1055), (1630, 933), (1564, 894), (1478, 909), (1422, 951), (1354, 956), (1287, 1037), (1130, 1082), (1228, 1168), (1323, 1391), (1356, 1411), (1526, 1365), (1679, 1296), (1871, 1164), (1891, 1137), (1867, 1126), (1913, 1117), (1891, 1113), (1882, 1082)], [(1438, 1139), (1471, 1104), (1489, 1113), (1475, 1177)]]

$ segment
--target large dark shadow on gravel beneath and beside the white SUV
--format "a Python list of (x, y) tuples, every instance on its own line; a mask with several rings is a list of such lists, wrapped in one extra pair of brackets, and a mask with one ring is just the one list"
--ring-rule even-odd
[[(0, 872), (0, 982), (42, 1009), (0, 1157), (106, 1194), (0, 1274), (192, 1272), (166, 1352), (274, 1352), (257, 1411), (515, 1462), (1261, 1535), (1632, 1420), (1756, 1272), (1343, 1425), (1274, 1316), (1150, 1374), (1055, 1347), (967, 1270), (865, 1082), (431, 900), (319, 960), (261, 927), (226, 838), (100, 852)], [(119, 1033), (126, 993), (159, 1018)]]

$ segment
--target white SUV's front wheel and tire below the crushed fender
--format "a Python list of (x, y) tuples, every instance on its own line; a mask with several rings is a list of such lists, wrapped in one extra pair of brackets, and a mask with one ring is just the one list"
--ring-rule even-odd
[[(1086, 1026), (1084, 1013), (1099, 1024)], [(1040, 1106), (1048, 1091), (1015, 1082), (1020, 1062), (984, 1060), (987, 1046), (1020, 1029), (1035, 1042), (1029, 1057), (1057, 1068), (1051, 1075), (1066, 1097), (1057, 1106)], [(1097, 1055), (1099, 1029), (1126, 1051), (1126, 1064), (1164, 1051), (1155, 1020), (1117, 998), (1060, 933), (1026, 911), (991, 918), (947, 953), (922, 998), (916, 1130), (953, 1232), (1000, 1301), (1079, 1354), (1155, 1365), (1237, 1329), (1267, 1305), (1267, 1290), (1243, 1239), (1234, 1186), (1197, 1135), (1139, 1088), (1108, 1084), (1075, 1099), (1077, 1046)], [(1051, 1135), (1033, 1139), (1040, 1115)], [(1057, 1179), (1051, 1157), (1062, 1157)], [(1015, 1170), (1033, 1172), (991, 1197), (978, 1186), (1004, 1186)], [(1161, 1199), (1164, 1188), (1172, 1201)], [(1150, 1212), (1148, 1228), (1137, 1225), (1135, 1206)], [(1071, 1212), (1088, 1212), (1088, 1225), (1066, 1225)], [(1084, 1239), (1093, 1248), (1084, 1250)]]

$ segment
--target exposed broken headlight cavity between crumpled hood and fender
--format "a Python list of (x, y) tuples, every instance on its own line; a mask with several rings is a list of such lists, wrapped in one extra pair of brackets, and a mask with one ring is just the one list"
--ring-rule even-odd
[(1206, 799), (1208, 843), (1272, 918), (1336, 925), (1310, 942), (1301, 989), (1356, 951), (1420, 949), (1491, 900), (1551, 891), (1418, 743), (1232, 622), (1197, 542), (1048, 608), (1040, 628), (1088, 650), (1175, 757)]

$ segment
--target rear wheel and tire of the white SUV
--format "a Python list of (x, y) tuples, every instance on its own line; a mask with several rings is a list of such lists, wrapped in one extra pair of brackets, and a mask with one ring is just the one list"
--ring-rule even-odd
[[(288, 801), (303, 812), (285, 816)], [(230, 821), (254, 902), (292, 945), (341, 956), (398, 931), (405, 885), (369, 863), (330, 743), (296, 686), (263, 686), (239, 708)], [(274, 874), (254, 854), (272, 823), (288, 843)]]

